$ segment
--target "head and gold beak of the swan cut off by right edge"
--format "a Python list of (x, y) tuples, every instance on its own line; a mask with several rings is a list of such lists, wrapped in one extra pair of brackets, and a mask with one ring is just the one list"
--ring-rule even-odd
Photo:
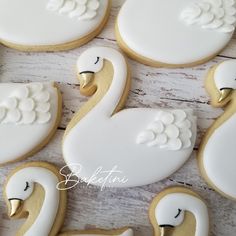
[[(236, 89), (236, 60), (228, 60), (222, 62), (212, 69), (215, 87), (217, 88), (217, 96), (213, 96), (213, 105), (224, 106), (231, 99)], [(211, 77), (211, 76), (210, 76)], [(212, 89), (209, 90), (212, 93)]]

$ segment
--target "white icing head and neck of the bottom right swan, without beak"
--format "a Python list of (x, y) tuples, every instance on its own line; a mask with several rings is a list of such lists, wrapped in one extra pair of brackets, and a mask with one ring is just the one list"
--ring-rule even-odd
[(171, 193), (163, 197), (155, 209), (158, 225), (179, 226), (184, 212), (191, 212), (196, 219), (195, 236), (209, 235), (209, 216), (205, 203), (197, 197), (184, 193)]

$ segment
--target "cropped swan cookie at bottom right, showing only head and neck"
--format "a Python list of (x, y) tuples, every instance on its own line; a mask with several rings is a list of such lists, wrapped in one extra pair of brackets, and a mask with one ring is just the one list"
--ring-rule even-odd
[(199, 195), (183, 187), (172, 187), (158, 194), (149, 217), (155, 236), (208, 236), (207, 206)]

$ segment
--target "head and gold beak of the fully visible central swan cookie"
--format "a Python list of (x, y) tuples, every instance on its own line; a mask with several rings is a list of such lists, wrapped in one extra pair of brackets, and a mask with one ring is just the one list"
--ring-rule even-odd
[(102, 71), (104, 58), (99, 53), (101, 48), (90, 48), (83, 52), (78, 59), (77, 69), (80, 81), (80, 91), (91, 96), (96, 91), (95, 75)]

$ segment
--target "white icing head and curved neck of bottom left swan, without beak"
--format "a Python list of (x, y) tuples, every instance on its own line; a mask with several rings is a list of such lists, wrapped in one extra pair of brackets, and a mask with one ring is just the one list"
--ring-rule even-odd
[[(27, 183), (29, 188), (26, 188)], [(24, 236), (48, 236), (54, 224), (60, 201), (56, 188), (57, 176), (42, 167), (26, 167), (16, 172), (6, 185), (7, 199), (26, 200), (34, 191), (34, 184), (40, 184), (45, 191), (45, 198), (37, 219)]]

